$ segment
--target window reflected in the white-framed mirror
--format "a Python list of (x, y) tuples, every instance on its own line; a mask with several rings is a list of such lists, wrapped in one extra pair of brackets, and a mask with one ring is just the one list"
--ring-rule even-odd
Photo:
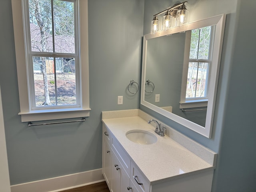
[[(212, 41), (214, 26), (207, 26), (191, 30), (186, 35), (189, 38), (189, 59), (187, 65), (186, 89), (181, 96), (180, 108), (207, 106), (208, 74), (212, 63)], [(186, 88), (184, 88), (186, 86)]]

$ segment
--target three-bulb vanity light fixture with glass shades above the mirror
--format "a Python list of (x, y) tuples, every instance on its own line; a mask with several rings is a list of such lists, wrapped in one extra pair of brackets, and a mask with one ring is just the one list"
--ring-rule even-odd
[[(156, 34), (162, 30), (168, 30), (172, 27), (184, 25), (188, 22), (188, 10), (186, 9), (187, 1), (163, 10), (153, 16), (151, 21), (151, 34)], [(158, 20), (158, 15), (165, 13), (162, 20), (162, 26), (160, 26), (160, 21)]]

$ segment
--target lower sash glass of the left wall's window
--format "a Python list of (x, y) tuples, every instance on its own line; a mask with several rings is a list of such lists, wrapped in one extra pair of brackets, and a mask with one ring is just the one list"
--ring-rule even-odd
[(74, 58), (33, 57), (36, 106), (76, 104)]

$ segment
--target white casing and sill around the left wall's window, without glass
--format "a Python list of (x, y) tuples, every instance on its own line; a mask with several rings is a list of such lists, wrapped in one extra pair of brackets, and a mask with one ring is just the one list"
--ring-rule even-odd
[[(88, 60), (88, 0), (77, 0), (79, 14), (80, 50), (80, 106), (74, 108), (49, 108), (32, 110), (30, 107), (28, 67), (26, 64), (25, 30), (23, 25), (22, 1), (12, 0), (12, 15), (14, 25), (14, 42), (16, 51), (16, 65), (20, 98), (20, 112), (22, 122), (53, 120), (64, 118), (78, 118), (90, 116), (89, 102), (89, 60)], [(82, 11), (80, 11), (82, 8)], [(82, 53), (82, 54), (81, 54)]]

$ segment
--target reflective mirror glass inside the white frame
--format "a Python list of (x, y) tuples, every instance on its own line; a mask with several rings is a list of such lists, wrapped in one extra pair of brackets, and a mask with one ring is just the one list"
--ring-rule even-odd
[[(214, 38), (212, 29), (214, 26), (206, 26), (148, 40), (146, 79), (154, 80), (157, 84), (155, 94), (158, 99), (155, 94), (147, 94), (151, 93), (148, 90), (152, 90), (152, 85), (146, 84), (147, 102), (205, 126), (206, 108), (198, 108), (197, 111), (192, 109), (193, 112), (189, 113), (187, 110), (181, 110), (186, 107), (180, 107), (180, 103), (183, 105), (186, 102), (192, 104), (208, 101), (207, 82), (212, 55), (211, 40)], [(189, 55), (184, 55), (186, 49), (189, 50)], [(184, 62), (185, 57), (189, 60), (188, 63)], [(187, 76), (184, 85), (183, 68), (188, 69), (187, 73), (183, 74)], [(186, 91), (181, 92), (182, 88)], [(181, 95), (182, 93), (184, 95)]]

